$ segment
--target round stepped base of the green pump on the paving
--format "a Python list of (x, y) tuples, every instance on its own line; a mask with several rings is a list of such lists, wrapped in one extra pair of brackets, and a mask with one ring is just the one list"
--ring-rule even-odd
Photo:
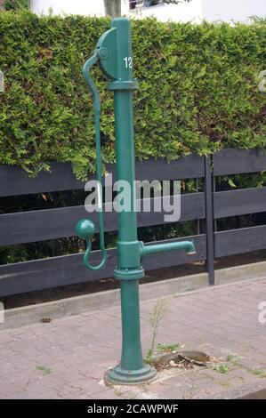
[(124, 370), (120, 366), (112, 367), (104, 375), (106, 384), (133, 385), (151, 381), (157, 371), (154, 367), (144, 364), (139, 370)]

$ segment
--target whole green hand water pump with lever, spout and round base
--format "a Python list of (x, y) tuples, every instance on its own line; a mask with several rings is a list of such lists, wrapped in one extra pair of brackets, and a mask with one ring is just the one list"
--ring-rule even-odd
[[(117, 181), (127, 181), (130, 185), (130, 210), (117, 210), (118, 241), (117, 268), (114, 277), (120, 281), (121, 316), (122, 316), (122, 355), (118, 366), (110, 368), (105, 378), (114, 384), (137, 384), (154, 378), (156, 371), (145, 364), (141, 350), (139, 279), (144, 277), (141, 266), (143, 257), (154, 253), (186, 250), (195, 253), (192, 241), (173, 242), (170, 244), (144, 245), (138, 240), (137, 219), (134, 210), (135, 157), (133, 137), (133, 91), (138, 83), (133, 79), (133, 57), (130, 21), (126, 18), (112, 20), (112, 27), (105, 32), (93, 52), (85, 62), (83, 73), (85, 81), (93, 94), (94, 123), (96, 133), (97, 181), (102, 186), (101, 169), (101, 103), (99, 92), (93, 83), (90, 70), (98, 62), (101, 71), (109, 80), (108, 89), (114, 92)], [(118, 204), (119, 205), (119, 204)], [(108, 260), (104, 245), (103, 205), (101, 187), (98, 189), (98, 212), (101, 262), (94, 266), (89, 262), (95, 232), (92, 221), (77, 222), (76, 233), (85, 239), (86, 251), (84, 263), (88, 269), (101, 269)]]

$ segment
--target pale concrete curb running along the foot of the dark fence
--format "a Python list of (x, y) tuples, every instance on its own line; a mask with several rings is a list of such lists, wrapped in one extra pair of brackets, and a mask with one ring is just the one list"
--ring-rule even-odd
[[(256, 279), (266, 277), (266, 261), (215, 271), (217, 285), (229, 285), (254, 277)], [(169, 296), (174, 293), (181, 295), (191, 291), (192, 293), (194, 293), (193, 291), (206, 291), (206, 287), (208, 287), (207, 273), (162, 280), (141, 285), (141, 301), (157, 299), (157, 297)], [(0, 330), (34, 324), (40, 322), (42, 318), (62, 318), (85, 311), (111, 308), (119, 304), (119, 297), (119, 289), (116, 289), (8, 309), (4, 312), (5, 322), (0, 324)]]

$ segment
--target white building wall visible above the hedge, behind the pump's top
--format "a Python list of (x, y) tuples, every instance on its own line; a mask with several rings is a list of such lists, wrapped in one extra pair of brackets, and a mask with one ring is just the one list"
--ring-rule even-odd
[[(104, 15), (103, 0), (31, 0), (36, 13)], [(158, 20), (244, 20), (251, 15), (266, 17), (266, 0), (192, 0), (189, 4), (157, 4), (129, 12), (128, 1), (122, 0), (123, 14), (137, 18), (155, 16)]]

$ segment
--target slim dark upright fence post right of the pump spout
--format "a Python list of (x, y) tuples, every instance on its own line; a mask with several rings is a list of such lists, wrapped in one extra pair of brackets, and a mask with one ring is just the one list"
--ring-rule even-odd
[(209, 285), (214, 285), (214, 206), (212, 158), (205, 157), (205, 197), (206, 197), (206, 271)]

